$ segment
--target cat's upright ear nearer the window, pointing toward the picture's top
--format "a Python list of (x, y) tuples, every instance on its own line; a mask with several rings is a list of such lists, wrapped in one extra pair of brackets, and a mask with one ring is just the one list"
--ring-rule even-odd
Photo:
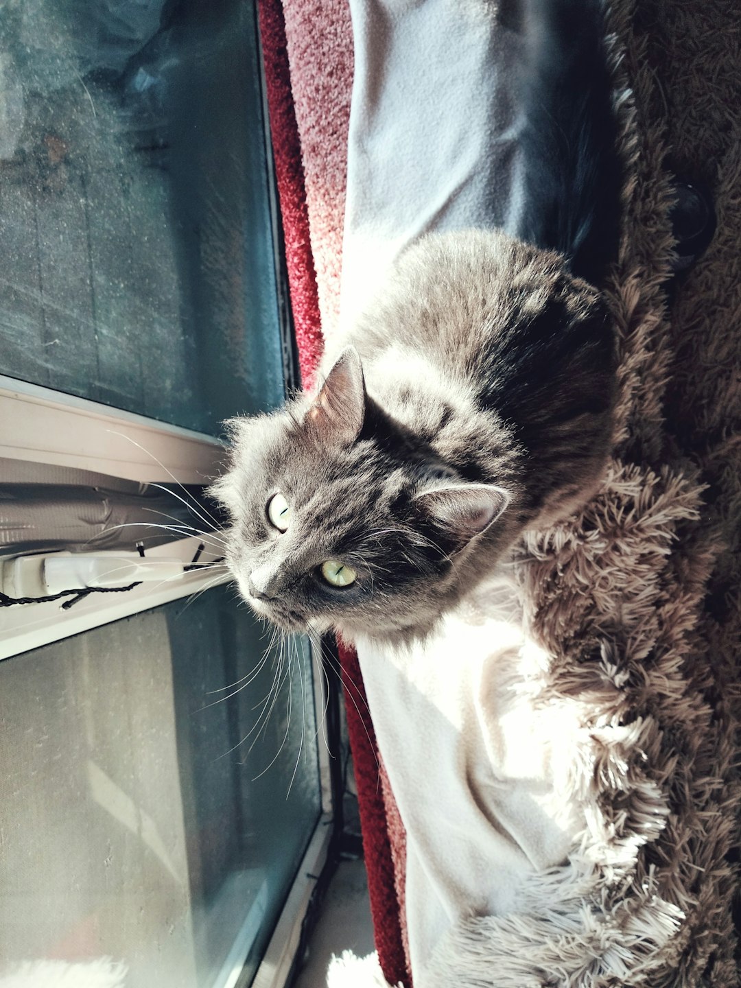
[(358, 438), (365, 418), (366, 385), (361, 359), (355, 347), (348, 347), (327, 374), (306, 412), (306, 420), (323, 441), (349, 446)]

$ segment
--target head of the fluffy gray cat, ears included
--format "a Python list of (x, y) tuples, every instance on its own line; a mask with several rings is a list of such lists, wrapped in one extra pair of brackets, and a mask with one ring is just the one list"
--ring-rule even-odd
[(508, 492), (466, 482), (367, 395), (348, 349), (318, 394), (231, 423), (227, 562), (261, 617), (348, 636), (431, 625), (453, 559), (492, 526)]

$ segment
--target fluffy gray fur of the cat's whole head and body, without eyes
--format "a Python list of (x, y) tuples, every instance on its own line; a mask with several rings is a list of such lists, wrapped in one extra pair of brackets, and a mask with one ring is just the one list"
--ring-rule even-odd
[[(288, 629), (426, 634), (524, 529), (590, 492), (614, 339), (600, 293), (501, 232), (427, 237), (326, 355), (316, 393), (231, 422), (212, 488), (245, 600)], [(282, 492), (288, 531), (269, 521)], [(347, 587), (327, 559), (357, 572)]]

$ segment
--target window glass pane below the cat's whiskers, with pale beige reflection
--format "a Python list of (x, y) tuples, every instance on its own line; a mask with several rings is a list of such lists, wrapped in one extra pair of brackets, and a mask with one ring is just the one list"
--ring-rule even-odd
[(0, 974), (256, 969), (320, 812), (307, 651), (262, 633), (217, 588), (0, 663)]

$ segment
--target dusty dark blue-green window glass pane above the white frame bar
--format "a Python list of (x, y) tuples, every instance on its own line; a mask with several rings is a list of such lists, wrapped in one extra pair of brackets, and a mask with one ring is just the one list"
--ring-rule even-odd
[(5, 4), (0, 94), (0, 372), (211, 434), (275, 407), (253, 4)]

